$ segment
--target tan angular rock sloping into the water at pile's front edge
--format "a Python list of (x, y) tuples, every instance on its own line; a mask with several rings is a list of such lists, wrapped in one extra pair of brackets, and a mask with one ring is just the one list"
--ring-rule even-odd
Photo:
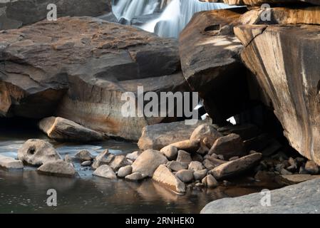
[(174, 192), (185, 193), (185, 184), (175, 177), (165, 165), (160, 165), (157, 170), (155, 170), (153, 180), (162, 183)]

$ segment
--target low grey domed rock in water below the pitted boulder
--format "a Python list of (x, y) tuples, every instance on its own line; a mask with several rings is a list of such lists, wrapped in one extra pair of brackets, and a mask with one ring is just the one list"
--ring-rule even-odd
[(57, 175), (66, 177), (73, 177), (76, 175), (76, 170), (74, 169), (73, 165), (63, 160), (46, 162), (40, 167), (38, 167), (38, 172), (47, 175)]

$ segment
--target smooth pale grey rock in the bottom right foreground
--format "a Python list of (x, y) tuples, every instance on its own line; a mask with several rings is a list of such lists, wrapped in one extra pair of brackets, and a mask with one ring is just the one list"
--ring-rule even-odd
[(319, 214), (320, 180), (309, 180), (270, 192), (272, 207), (262, 205), (261, 192), (242, 197), (217, 199), (202, 214)]

